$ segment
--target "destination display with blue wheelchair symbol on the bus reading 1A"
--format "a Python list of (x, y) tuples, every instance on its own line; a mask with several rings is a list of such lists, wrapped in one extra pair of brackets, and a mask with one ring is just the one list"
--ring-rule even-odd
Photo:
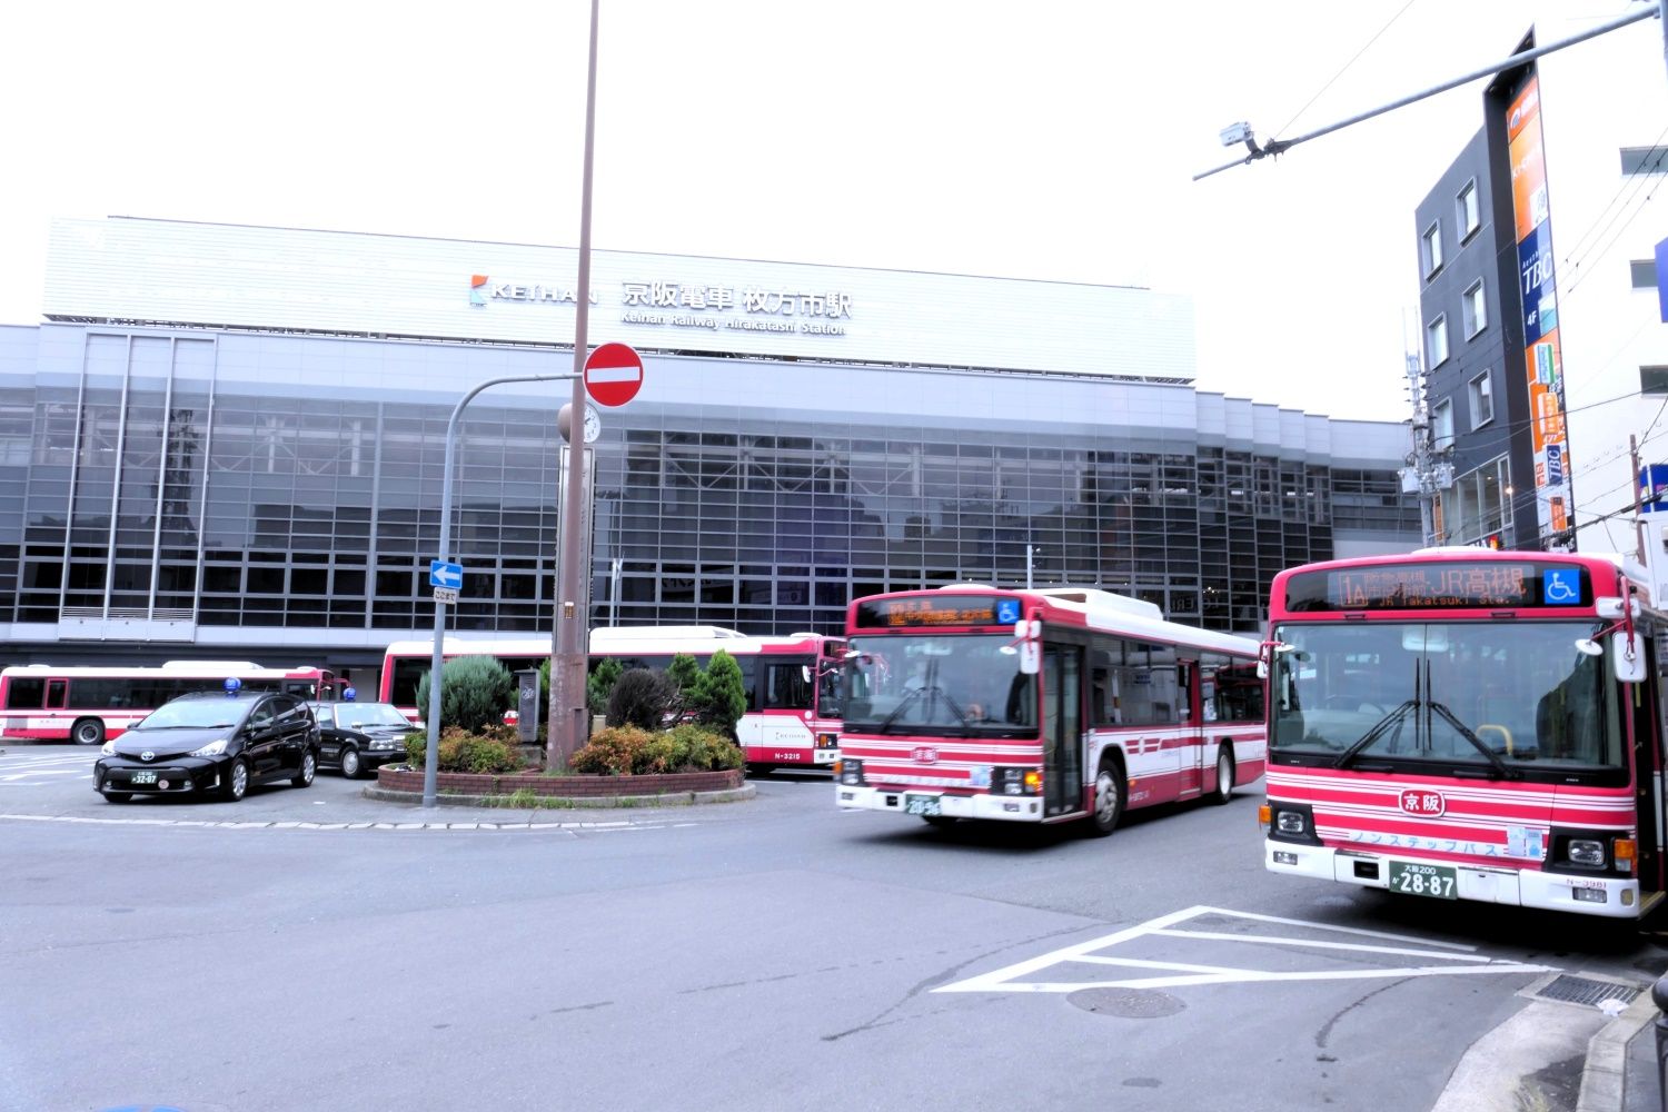
[(1528, 560), (1394, 564), (1286, 580), (1291, 612), (1566, 607), (1591, 600), (1581, 569)]

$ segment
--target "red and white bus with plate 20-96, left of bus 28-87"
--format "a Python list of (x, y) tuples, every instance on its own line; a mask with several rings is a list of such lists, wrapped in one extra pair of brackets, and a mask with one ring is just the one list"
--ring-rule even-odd
[(846, 620), (841, 807), (1111, 834), (1266, 757), (1258, 642), (1093, 589), (871, 595)]

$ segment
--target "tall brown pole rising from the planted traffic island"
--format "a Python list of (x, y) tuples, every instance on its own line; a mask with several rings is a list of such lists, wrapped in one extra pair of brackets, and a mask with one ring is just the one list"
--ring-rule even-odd
[[(579, 200), (579, 308), (574, 313), (574, 400), (570, 427), (579, 430), (585, 412), (585, 355), (590, 323), (590, 152), (597, 120), (597, 8), (590, 0), (590, 58), (585, 67), (585, 160)], [(565, 769), (585, 739), (585, 652), (589, 649), (584, 589), (590, 579), (590, 545), (584, 543), (585, 443), (570, 437), (567, 490), (562, 500), (562, 557), (555, 589), (555, 654), (550, 659), (550, 737), (545, 767)]]

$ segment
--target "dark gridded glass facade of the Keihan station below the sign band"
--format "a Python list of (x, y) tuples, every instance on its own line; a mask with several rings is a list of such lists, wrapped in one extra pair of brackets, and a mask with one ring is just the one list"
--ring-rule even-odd
[[(485, 367), (440, 393), (355, 378), (342, 358), (335, 387), (319, 390), (267, 372), (340, 342), (245, 335), (240, 345), (270, 355), (250, 363), (260, 373), (232, 373), (239, 360), (217, 350), (225, 335), (60, 332), (83, 337), (78, 372), (43, 358), (33, 383), (0, 390), (0, 622), (13, 624), (13, 649), (62, 660), (40, 627), (132, 620), (172, 627), (175, 640), (244, 644), (255, 659), (280, 629), (289, 657), (367, 664), (432, 627), (447, 422)], [(364, 345), (392, 350), (389, 362), (410, 348), (494, 352)], [(539, 355), (557, 370), (572, 358)], [(757, 362), (727, 365), (759, 373)], [(1193, 397), (1173, 383), (1118, 388)], [(459, 425), (450, 555), (467, 574), (452, 630), (552, 627), (555, 405), (487, 395)], [(1274, 572), (1331, 559), (1336, 530), (1418, 540), (1399, 458), (1346, 468), (1134, 420), (814, 417), (809, 400), (792, 413), (605, 410), (590, 622), (839, 632), (854, 597), (1031, 580), (1093, 584), (1244, 632)]]

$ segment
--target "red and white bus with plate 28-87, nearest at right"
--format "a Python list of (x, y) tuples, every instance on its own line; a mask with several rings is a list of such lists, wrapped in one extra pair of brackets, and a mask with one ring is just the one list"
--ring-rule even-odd
[(1663, 895), (1645, 570), (1488, 548), (1274, 577), (1271, 872), (1631, 919)]

